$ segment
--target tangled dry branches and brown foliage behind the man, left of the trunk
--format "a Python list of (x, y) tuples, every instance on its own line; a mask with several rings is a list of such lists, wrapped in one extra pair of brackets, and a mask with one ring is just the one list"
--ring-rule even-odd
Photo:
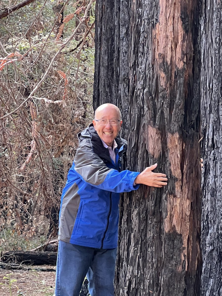
[(0, 7), (0, 251), (26, 251), (57, 237), (77, 134), (92, 120), (95, 2)]

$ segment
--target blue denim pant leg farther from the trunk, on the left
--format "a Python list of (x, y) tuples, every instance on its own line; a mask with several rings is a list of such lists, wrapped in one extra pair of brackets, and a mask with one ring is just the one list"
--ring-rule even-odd
[(59, 241), (55, 296), (79, 296), (94, 250)]

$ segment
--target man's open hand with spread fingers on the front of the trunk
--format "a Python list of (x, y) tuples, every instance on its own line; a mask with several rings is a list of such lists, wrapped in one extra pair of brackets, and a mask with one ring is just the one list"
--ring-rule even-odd
[(134, 180), (135, 184), (144, 184), (153, 187), (163, 187), (167, 185), (167, 182), (163, 182), (168, 181), (165, 174), (152, 172), (152, 170), (154, 170), (156, 167), (157, 163), (145, 168), (145, 170), (142, 171), (142, 173), (140, 173)]

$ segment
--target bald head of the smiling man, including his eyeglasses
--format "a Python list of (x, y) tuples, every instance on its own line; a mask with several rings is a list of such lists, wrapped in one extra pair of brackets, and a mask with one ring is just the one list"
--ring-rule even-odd
[[(110, 124), (110, 122), (113, 123), (113, 125)], [(103, 104), (95, 111), (95, 117), (93, 120), (94, 128), (100, 139), (102, 139), (108, 146), (112, 147), (113, 140), (117, 137), (122, 123), (120, 110), (113, 104)]]

